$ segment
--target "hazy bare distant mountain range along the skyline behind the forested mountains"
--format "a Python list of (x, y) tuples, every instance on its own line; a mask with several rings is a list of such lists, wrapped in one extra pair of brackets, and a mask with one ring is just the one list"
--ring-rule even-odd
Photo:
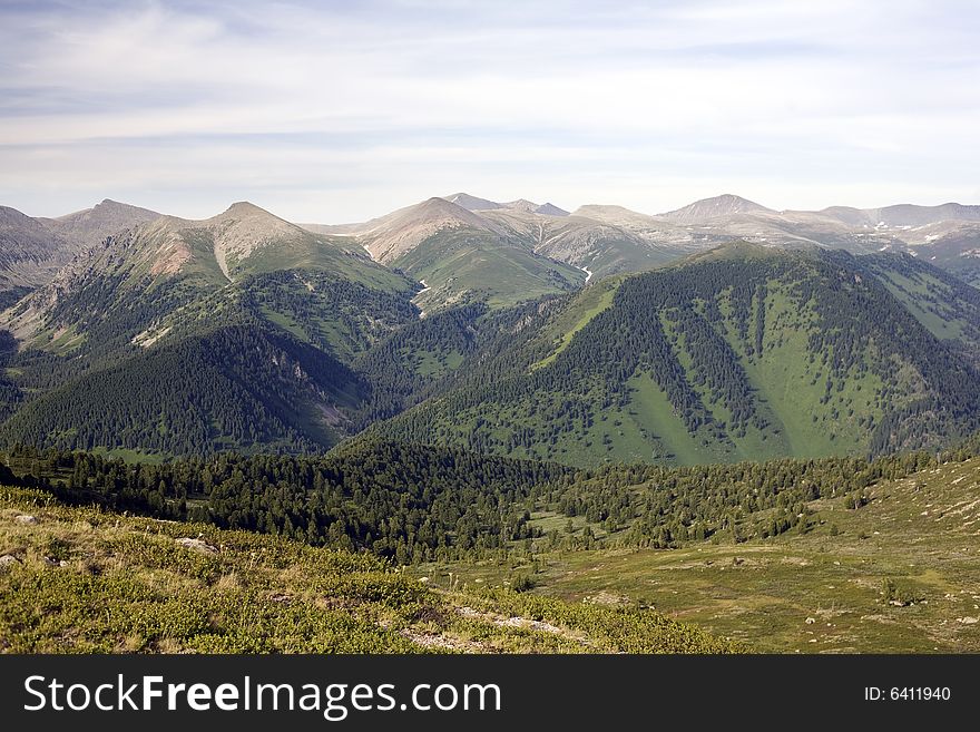
[[(88, 256), (87, 250), (106, 237), (157, 218), (161, 215), (156, 212), (114, 201), (59, 218), (31, 218), (0, 207), (0, 304), (12, 304), (48, 284), (60, 269), (80, 254)], [(381, 264), (425, 280), (419, 304), (427, 311), (474, 299), (504, 304), (566, 292), (579, 286), (588, 273), (600, 279), (649, 270), (735, 240), (857, 254), (908, 252), (968, 282), (980, 282), (980, 206), (954, 203), (776, 212), (726, 194), (648, 215), (609, 205), (586, 205), (569, 213), (551, 203), (498, 203), (454, 193), (360, 224), (298, 227), (349, 253), (365, 251)], [(261, 244), (242, 246), (247, 256)], [(223, 256), (218, 247), (219, 266)]]

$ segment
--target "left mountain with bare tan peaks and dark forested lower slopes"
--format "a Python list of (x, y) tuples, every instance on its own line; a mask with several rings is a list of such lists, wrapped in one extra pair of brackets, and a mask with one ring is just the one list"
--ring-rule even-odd
[(0, 440), (156, 459), (329, 448), (371, 399), (351, 363), (418, 321), (419, 287), (247, 204), (127, 230), (2, 315), (21, 349), (0, 354)]

